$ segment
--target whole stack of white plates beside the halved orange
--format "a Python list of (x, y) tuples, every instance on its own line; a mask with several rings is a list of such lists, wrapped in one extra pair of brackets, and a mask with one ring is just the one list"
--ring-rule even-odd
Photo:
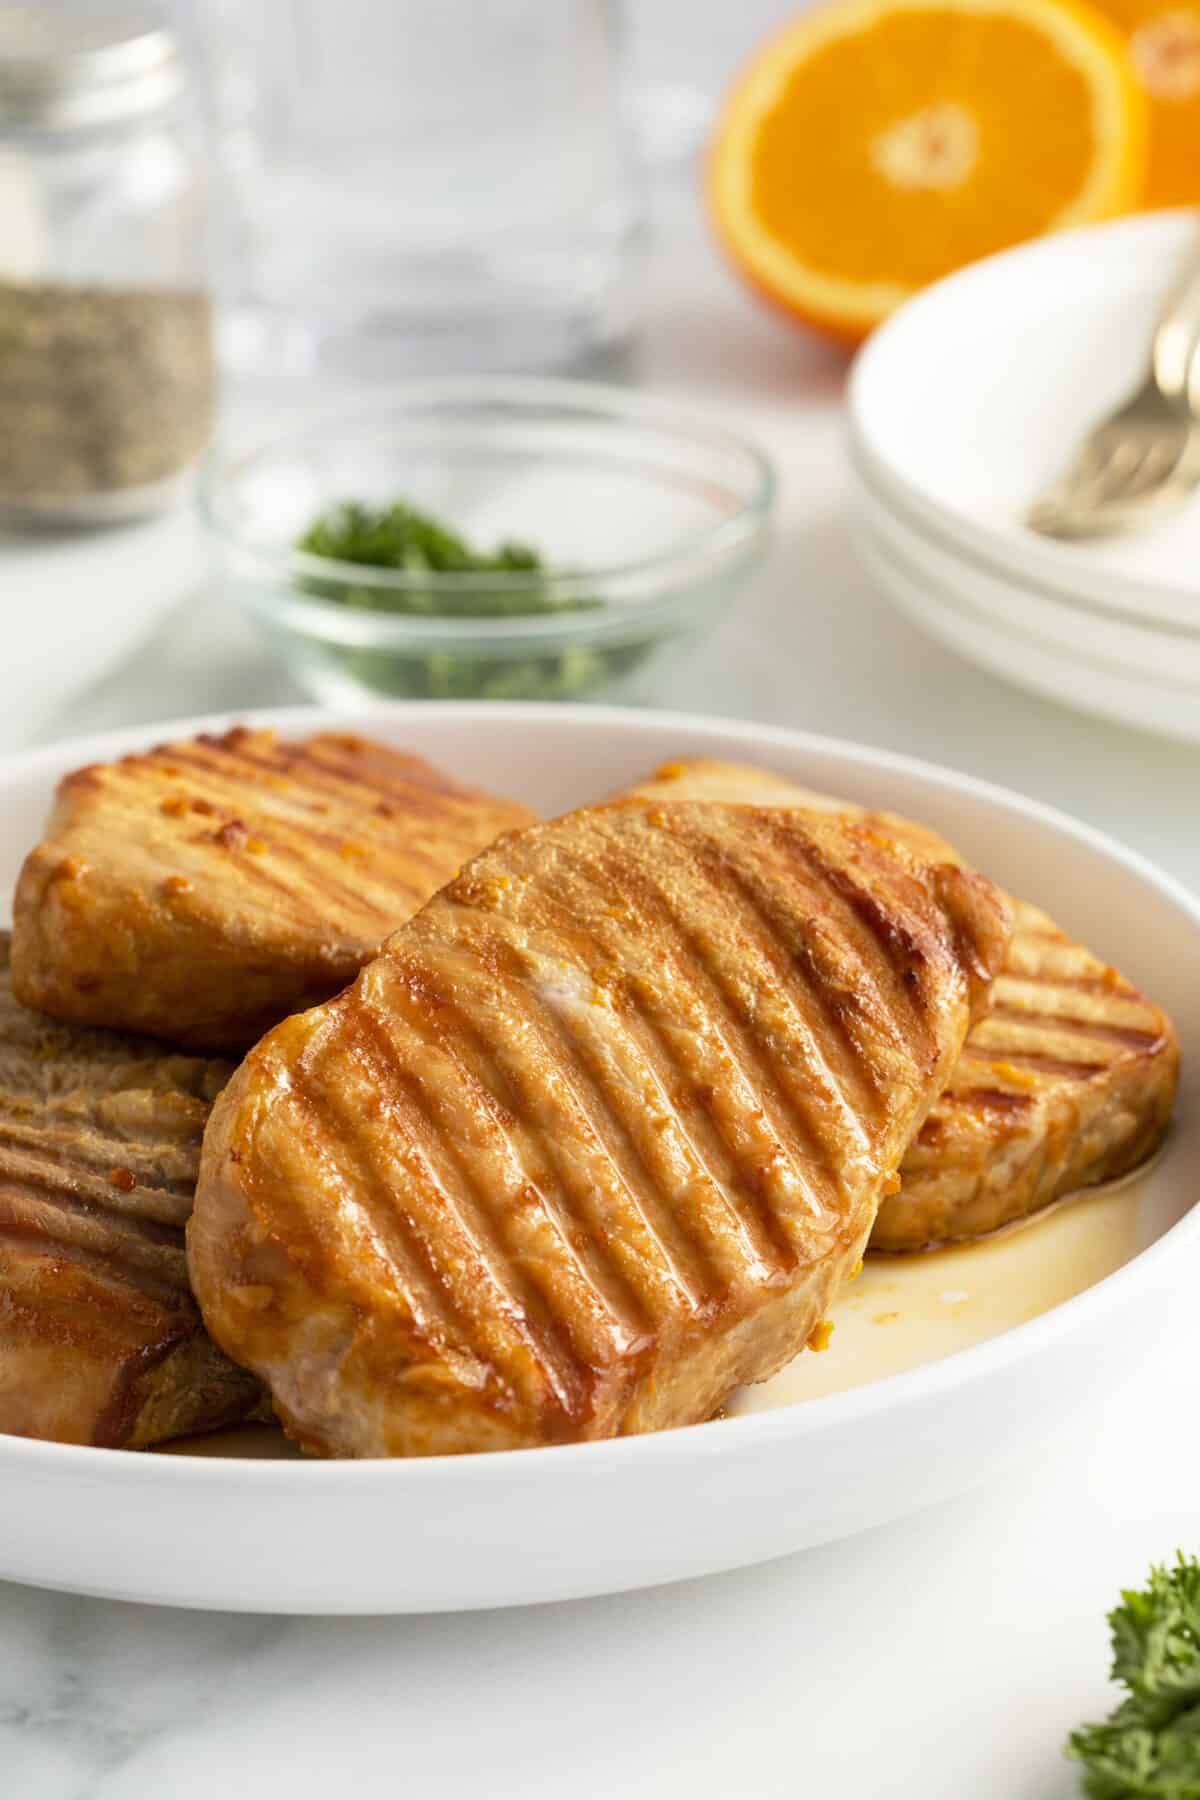
[(910, 301), (851, 382), (855, 531), (943, 643), (1052, 700), (1200, 740), (1200, 495), (1088, 544), (1024, 526), (1087, 428), (1144, 376), (1200, 218), (1043, 238)]

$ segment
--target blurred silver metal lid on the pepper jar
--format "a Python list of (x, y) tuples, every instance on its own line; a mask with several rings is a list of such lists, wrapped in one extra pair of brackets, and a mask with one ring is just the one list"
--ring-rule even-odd
[(0, 130), (74, 131), (167, 106), (178, 47), (155, 14), (0, 4)]

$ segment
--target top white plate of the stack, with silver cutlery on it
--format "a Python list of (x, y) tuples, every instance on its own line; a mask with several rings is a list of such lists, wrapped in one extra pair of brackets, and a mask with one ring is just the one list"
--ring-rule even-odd
[(1200, 499), (1090, 544), (1024, 524), (1085, 432), (1144, 376), (1198, 234), (1196, 212), (1117, 220), (986, 257), (916, 295), (855, 364), (860, 472), (912, 524), (1002, 574), (1200, 641)]

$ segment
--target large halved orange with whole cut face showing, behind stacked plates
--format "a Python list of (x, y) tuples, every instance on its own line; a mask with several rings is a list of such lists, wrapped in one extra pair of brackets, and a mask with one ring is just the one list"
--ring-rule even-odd
[(837, 0), (734, 86), (709, 203), (770, 301), (853, 342), (963, 263), (1128, 211), (1144, 144), (1121, 32), (1081, 0)]

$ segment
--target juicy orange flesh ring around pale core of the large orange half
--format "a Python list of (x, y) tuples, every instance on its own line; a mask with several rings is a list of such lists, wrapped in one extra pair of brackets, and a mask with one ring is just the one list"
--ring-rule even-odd
[[(973, 166), (959, 184), (900, 185), (878, 167), (876, 140), (928, 106), (966, 115)], [(919, 286), (1045, 230), (1081, 189), (1092, 151), (1087, 83), (1033, 27), (892, 14), (792, 72), (757, 139), (752, 209), (822, 274)]]

